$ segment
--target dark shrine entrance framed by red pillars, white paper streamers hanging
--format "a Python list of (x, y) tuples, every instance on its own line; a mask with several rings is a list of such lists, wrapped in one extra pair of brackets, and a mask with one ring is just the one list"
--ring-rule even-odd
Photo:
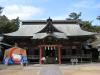
[(61, 45), (39, 45), (40, 64), (61, 64)]

